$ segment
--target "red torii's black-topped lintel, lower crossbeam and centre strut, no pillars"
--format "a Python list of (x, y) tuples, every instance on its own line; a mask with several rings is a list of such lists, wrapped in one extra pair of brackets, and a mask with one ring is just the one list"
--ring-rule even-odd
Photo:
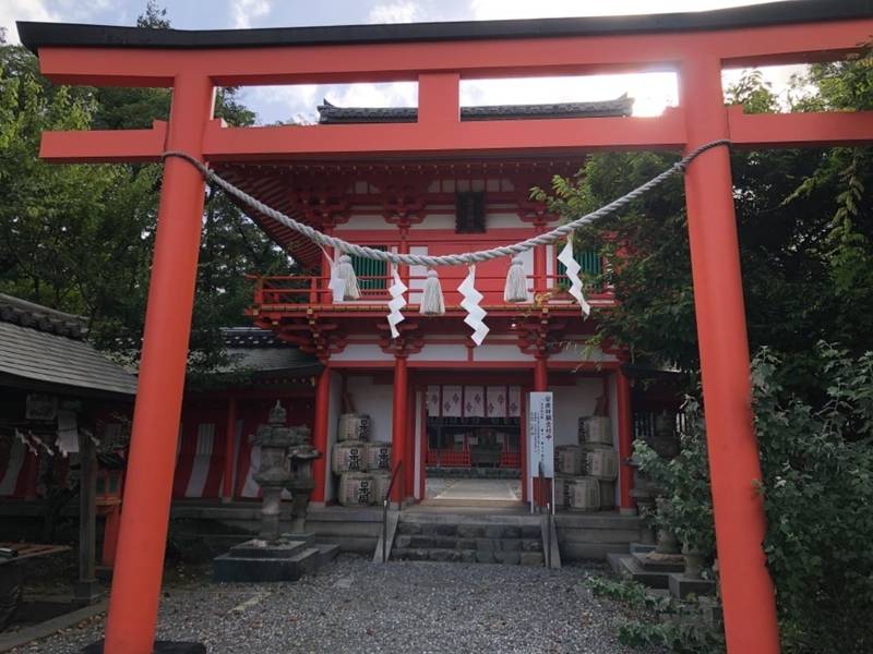
[[(680, 149), (685, 107), (658, 118), (459, 120), (462, 78), (617, 71), (678, 71), (833, 60), (873, 35), (871, 0), (794, 0), (687, 14), (356, 25), (280, 29), (141, 29), (20, 23), (22, 41), (59, 83), (216, 86), (327, 82), (418, 82), (416, 123), (227, 128), (205, 124), (211, 161), (299, 158), (457, 157), (596, 149)], [(844, 145), (873, 141), (868, 113), (725, 117), (737, 146)], [(46, 133), (51, 161), (155, 161), (166, 125), (119, 132)]]

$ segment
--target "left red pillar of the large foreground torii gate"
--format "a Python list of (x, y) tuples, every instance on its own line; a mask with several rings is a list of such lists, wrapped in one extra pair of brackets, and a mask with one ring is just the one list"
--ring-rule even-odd
[[(174, 84), (167, 149), (202, 157), (214, 88), (206, 76)], [(124, 510), (109, 618), (107, 654), (151, 654), (176, 464), (188, 338), (194, 300), (204, 183), (187, 161), (167, 159), (145, 314), (140, 383), (133, 412)]]

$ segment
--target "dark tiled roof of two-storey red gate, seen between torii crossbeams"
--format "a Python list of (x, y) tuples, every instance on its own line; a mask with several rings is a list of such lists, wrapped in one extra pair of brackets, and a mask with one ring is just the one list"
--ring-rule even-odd
[[(594, 102), (554, 102), (550, 105), (493, 105), (462, 107), (461, 120), (514, 120), (543, 118), (600, 118), (631, 116), (634, 100), (623, 95), (613, 100)], [(415, 122), (416, 107), (336, 107), (324, 100), (319, 105), (322, 124)]]

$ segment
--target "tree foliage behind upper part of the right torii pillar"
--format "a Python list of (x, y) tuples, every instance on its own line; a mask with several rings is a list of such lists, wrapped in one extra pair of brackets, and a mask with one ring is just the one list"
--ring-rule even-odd
[[(792, 109), (863, 109), (871, 59), (813, 66), (797, 78)], [(748, 112), (778, 108), (757, 73), (729, 92)], [(575, 179), (555, 178), (549, 201), (578, 216), (619, 197), (675, 161), (653, 153), (598, 154)], [(736, 152), (731, 155), (737, 228), (752, 349), (769, 346), (814, 387), (820, 339), (852, 352), (873, 328), (873, 158), (869, 148)], [(618, 306), (597, 317), (599, 338), (623, 342), (641, 363), (693, 373), (699, 367), (681, 180), (647, 194), (619, 216), (577, 230), (582, 249), (599, 247), (602, 280)], [(693, 375), (689, 376), (692, 384)]]

